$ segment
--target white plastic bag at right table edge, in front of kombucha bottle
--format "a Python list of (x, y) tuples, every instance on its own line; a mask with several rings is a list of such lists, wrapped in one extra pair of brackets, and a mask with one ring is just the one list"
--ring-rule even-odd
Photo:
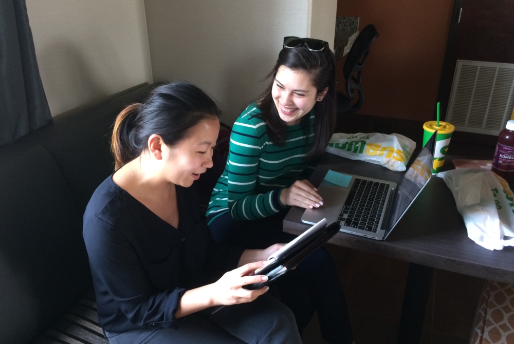
[(488, 250), (514, 246), (514, 197), (505, 179), (482, 168), (437, 174), (450, 188), (468, 237)]

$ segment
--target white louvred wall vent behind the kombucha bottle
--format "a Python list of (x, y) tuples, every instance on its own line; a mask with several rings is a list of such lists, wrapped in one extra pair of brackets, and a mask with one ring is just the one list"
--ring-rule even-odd
[(446, 121), (457, 131), (498, 135), (510, 120), (514, 64), (457, 60)]

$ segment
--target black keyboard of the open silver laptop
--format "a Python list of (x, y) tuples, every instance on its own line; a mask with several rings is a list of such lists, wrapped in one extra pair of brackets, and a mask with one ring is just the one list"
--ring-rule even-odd
[(376, 233), (386, 210), (388, 192), (389, 184), (356, 178), (337, 222), (341, 227)]

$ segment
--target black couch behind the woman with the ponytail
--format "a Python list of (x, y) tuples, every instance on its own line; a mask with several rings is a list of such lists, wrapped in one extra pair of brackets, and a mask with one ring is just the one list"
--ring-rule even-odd
[(1, 343), (107, 343), (97, 323), (82, 215), (113, 172), (116, 115), (155, 86), (62, 114), (0, 147)]

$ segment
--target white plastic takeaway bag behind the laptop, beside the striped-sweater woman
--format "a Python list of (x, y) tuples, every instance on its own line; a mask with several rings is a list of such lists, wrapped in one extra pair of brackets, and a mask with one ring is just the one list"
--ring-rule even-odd
[(382, 165), (393, 171), (405, 171), (415, 148), (414, 141), (396, 133), (338, 132), (332, 135), (326, 151), (344, 158)]

